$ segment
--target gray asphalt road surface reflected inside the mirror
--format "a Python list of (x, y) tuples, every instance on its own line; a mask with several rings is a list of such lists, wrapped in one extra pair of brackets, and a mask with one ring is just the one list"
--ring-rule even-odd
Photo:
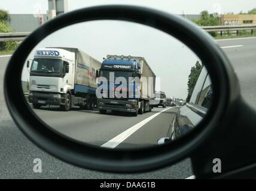
[[(166, 137), (169, 125), (178, 110), (179, 107), (158, 107), (151, 112), (133, 117), (127, 113), (110, 111), (102, 115), (97, 109), (80, 110), (79, 107), (69, 112), (63, 112), (57, 106), (33, 109), (36, 115), (54, 130), (75, 140), (96, 146), (108, 142), (105, 147), (127, 149), (156, 145), (160, 137)], [(148, 121), (150, 117), (154, 118)], [(142, 125), (139, 124), (141, 122)], [(132, 127), (139, 129), (133, 133)], [(121, 133), (127, 138), (116, 138), (118, 141), (112, 139)]]

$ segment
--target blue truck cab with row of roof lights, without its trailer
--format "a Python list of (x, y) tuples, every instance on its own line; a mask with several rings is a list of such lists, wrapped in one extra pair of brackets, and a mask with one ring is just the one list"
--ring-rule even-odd
[[(100, 113), (106, 110), (129, 112), (134, 116), (138, 113), (151, 111), (148, 98), (141, 96), (143, 57), (107, 56), (97, 77), (105, 78), (105, 84), (99, 81), (98, 89), (101, 97), (97, 97)], [(146, 67), (145, 67), (146, 68)]]

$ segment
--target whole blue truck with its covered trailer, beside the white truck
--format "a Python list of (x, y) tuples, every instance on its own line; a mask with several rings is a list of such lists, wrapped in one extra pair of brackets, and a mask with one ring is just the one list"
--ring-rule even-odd
[[(111, 73), (114, 75), (112, 79)], [(108, 87), (106, 90), (98, 88), (102, 93), (102, 97), (97, 97), (100, 113), (112, 110), (137, 116), (138, 113), (151, 112), (150, 100), (154, 98), (156, 75), (144, 57), (107, 55), (97, 76), (106, 78)], [(126, 79), (125, 87), (118, 81), (119, 77)], [(123, 96), (118, 96), (120, 93)]]

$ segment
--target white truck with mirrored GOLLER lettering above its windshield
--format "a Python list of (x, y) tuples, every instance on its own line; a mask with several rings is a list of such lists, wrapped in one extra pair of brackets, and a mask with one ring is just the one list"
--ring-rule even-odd
[[(30, 62), (27, 61), (27, 67)], [(96, 70), (101, 63), (77, 48), (49, 47), (35, 51), (29, 75), (29, 103), (93, 109), (96, 104)]]

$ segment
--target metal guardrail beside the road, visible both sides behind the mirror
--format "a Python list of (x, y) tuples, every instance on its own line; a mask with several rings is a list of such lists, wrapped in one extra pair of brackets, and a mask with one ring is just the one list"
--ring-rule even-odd
[[(251, 30), (251, 34), (256, 29), (256, 25), (227, 25), (227, 26), (202, 26), (202, 29), (207, 32), (221, 32), (223, 31), (236, 31), (237, 35), (239, 30)], [(23, 41), (31, 32), (13, 32), (13, 33), (0, 33), (0, 42), (3, 41)]]

